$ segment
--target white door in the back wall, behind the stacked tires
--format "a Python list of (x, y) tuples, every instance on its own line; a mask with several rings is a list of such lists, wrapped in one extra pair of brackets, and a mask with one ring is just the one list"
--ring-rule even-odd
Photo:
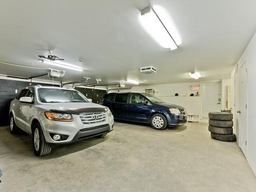
[(221, 82), (203, 83), (203, 117), (221, 111)]

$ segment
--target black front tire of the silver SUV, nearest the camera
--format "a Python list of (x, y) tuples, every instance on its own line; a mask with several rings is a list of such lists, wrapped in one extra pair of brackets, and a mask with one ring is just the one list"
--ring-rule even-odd
[[(34, 154), (36, 156), (44, 156), (48, 155), (52, 151), (52, 147), (49, 143), (46, 142), (44, 132), (42, 132), (41, 126), (39, 123), (36, 123), (33, 127), (33, 150)], [(36, 133), (38, 132), (38, 133)], [(38, 134), (38, 139), (39, 139), (39, 146), (36, 146), (35, 144), (35, 134)]]

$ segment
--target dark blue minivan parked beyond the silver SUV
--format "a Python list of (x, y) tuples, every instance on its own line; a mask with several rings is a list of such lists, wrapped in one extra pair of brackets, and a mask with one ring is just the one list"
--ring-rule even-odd
[(150, 123), (156, 130), (187, 122), (182, 106), (165, 103), (148, 93), (109, 93), (103, 96), (100, 104), (108, 106), (115, 119)]

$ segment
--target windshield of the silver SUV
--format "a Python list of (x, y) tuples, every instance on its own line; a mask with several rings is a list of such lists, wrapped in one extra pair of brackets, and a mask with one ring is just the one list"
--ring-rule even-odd
[(81, 93), (66, 89), (38, 89), (41, 102), (89, 102)]

